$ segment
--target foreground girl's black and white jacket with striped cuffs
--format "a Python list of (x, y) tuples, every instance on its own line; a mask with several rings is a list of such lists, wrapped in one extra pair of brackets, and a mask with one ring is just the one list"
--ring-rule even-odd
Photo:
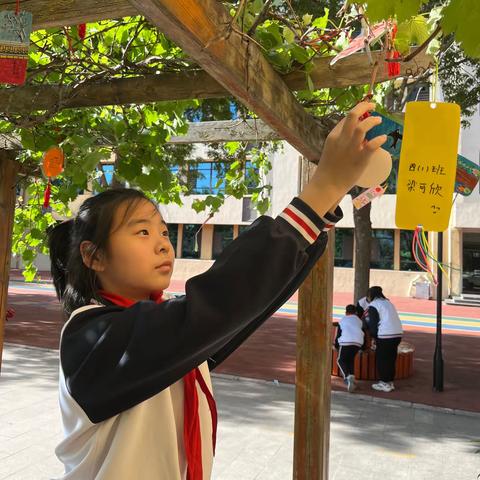
[[(209, 370), (298, 289), (341, 217), (337, 208), (320, 218), (295, 198), (277, 218), (256, 220), (184, 296), (73, 312), (60, 341), (62, 478), (183, 480), (182, 377), (198, 366), (211, 388)], [(198, 397), (208, 479), (212, 423), (200, 389)]]

